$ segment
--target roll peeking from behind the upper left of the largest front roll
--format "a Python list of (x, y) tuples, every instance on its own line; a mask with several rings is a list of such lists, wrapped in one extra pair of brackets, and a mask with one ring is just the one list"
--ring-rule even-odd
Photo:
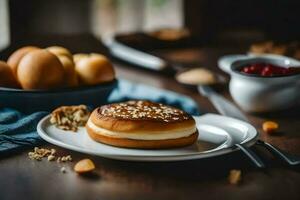
[(40, 49), (38, 47), (35, 46), (25, 46), (22, 47), (18, 50), (16, 50), (14, 53), (12, 53), (8, 60), (7, 60), (7, 64), (11, 67), (15, 77), (17, 77), (17, 68), (18, 65), (20, 63), (20, 60), (23, 58), (23, 56), (25, 56), (27, 53)]

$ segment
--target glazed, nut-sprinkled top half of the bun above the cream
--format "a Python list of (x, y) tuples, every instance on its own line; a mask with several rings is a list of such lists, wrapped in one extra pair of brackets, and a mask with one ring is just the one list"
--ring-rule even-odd
[[(137, 111), (137, 117), (133, 113), (125, 112), (125, 115), (110, 115), (112, 112), (116, 111), (118, 113), (119, 105), (124, 105), (121, 108), (121, 112), (123, 109), (127, 109), (130, 104), (133, 102), (133, 107), (130, 109), (133, 113), (135, 110)], [(136, 107), (136, 103), (141, 102), (143, 105), (148, 105), (146, 107), (146, 111), (142, 111), (140, 108)], [(91, 121), (101, 128), (116, 131), (116, 132), (143, 132), (143, 131), (172, 131), (172, 130), (184, 130), (186, 128), (190, 128), (195, 126), (195, 120), (186, 112), (181, 111), (179, 109), (172, 108), (170, 106), (165, 106), (162, 104), (157, 104), (149, 101), (129, 101), (124, 102), (122, 104), (110, 104), (106, 106), (102, 106), (100, 108), (95, 109), (90, 119)], [(156, 106), (156, 107), (155, 107)], [(154, 108), (155, 107), (155, 108)], [(115, 108), (115, 109), (111, 109)], [(145, 108), (145, 107), (143, 107)], [(143, 109), (142, 108), (142, 109)], [(156, 113), (157, 108), (161, 110), (161, 112)], [(120, 108), (119, 108), (120, 109)], [(164, 111), (167, 111), (167, 114), (164, 114)], [(149, 115), (139, 116), (141, 113), (148, 113)]]

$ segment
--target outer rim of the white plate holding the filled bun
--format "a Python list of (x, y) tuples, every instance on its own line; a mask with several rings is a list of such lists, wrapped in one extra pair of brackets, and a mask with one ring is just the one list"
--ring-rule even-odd
[[(142, 156), (142, 155), (99, 154), (99, 153), (96, 153), (95, 151), (86, 150), (84, 148), (79, 148), (77, 146), (66, 144), (64, 142), (61, 142), (59, 140), (56, 140), (56, 139), (53, 139), (52, 137), (50, 137), (42, 128), (43, 124), (46, 123), (46, 120), (50, 116), (51, 116), (51, 114), (43, 117), (37, 125), (38, 135), (42, 139), (44, 139), (45, 141), (47, 141), (51, 144), (54, 144), (54, 145), (57, 145), (59, 147), (66, 148), (66, 149), (69, 149), (69, 150), (72, 150), (72, 151), (85, 153), (85, 154), (89, 154), (89, 155), (94, 155), (94, 156), (99, 156), (99, 157), (103, 157), (103, 158), (114, 159), (114, 160), (135, 161), (135, 162), (185, 161), (185, 160), (195, 160), (195, 159), (204, 159), (204, 158), (221, 156), (221, 155), (232, 153), (232, 152), (235, 152), (235, 151), (238, 150), (234, 146), (230, 146), (230, 147), (221, 148), (219, 150), (216, 150), (216, 151), (213, 151), (213, 152), (208, 152), (208, 153), (198, 152), (198, 153), (191, 153), (191, 154), (186, 154), (186, 155), (170, 155), (170, 156), (166, 156), (166, 155), (162, 155), (162, 156), (145, 156), (145, 155), (143, 155)], [(235, 119), (235, 118), (222, 116), (222, 115), (218, 115), (218, 114), (211, 114), (211, 113), (204, 114), (204, 115), (201, 115), (201, 116), (193, 116), (193, 117), (221, 117), (221, 118), (225, 117), (225, 118), (228, 118), (230, 120), (234, 120), (236, 122), (242, 123), (245, 126), (247, 126), (248, 128), (249, 127), (252, 128), (252, 131), (255, 131), (254, 137), (249, 139), (249, 140), (247, 140), (247, 139), (243, 140), (240, 143), (240, 144), (244, 144), (248, 147), (253, 145), (257, 141), (258, 136), (259, 136), (258, 131), (251, 124), (243, 122), (243, 121)], [(224, 145), (224, 143), (222, 143), (220, 146), (222, 146), (222, 145)]]

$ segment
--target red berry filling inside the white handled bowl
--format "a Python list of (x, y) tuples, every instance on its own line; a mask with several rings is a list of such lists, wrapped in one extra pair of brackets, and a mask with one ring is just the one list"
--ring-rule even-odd
[(300, 68), (296, 67), (280, 67), (269, 63), (253, 63), (243, 66), (239, 69), (240, 72), (259, 76), (285, 76), (298, 74)]

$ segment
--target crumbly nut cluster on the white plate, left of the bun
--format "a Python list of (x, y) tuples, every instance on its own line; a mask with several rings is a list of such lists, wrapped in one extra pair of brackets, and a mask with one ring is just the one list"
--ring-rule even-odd
[(59, 129), (77, 131), (79, 126), (86, 124), (89, 115), (85, 105), (61, 106), (52, 112), (50, 122)]

